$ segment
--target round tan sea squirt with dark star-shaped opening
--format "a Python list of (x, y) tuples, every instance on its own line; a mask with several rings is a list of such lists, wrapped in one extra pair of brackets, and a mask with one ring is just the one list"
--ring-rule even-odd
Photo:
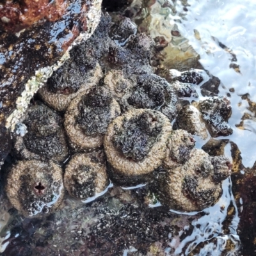
[(19, 161), (6, 180), (8, 199), (24, 216), (39, 216), (54, 211), (63, 198), (61, 168), (41, 161)]

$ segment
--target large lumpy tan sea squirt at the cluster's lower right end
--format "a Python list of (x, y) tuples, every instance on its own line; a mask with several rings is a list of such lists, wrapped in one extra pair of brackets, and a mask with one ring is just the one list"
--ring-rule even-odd
[(201, 211), (221, 196), (221, 181), (230, 175), (230, 162), (193, 149), (186, 163), (156, 175), (160, 202), (179, 211)]

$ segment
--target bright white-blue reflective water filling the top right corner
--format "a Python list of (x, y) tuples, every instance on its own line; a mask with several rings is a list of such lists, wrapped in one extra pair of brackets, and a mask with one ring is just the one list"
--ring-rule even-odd
[[(166, 7), (168, 4), (170, 7)], [(200, 54), (199, 62), (205, 70), (221, 80), (219, 95), (228, 95), (232, 106), (228, 123), (234, 132), (226, 138), (238, 146), (244, 166), (252, 167), (256, 161), (256, 119), (252, 109), (248, 109), (248, 100), (241, 96), (248, 94), (248, 99), (256, 102), (256, 3), (250, 0), (242, 3), (237, 0), (159, 0), (144, 10), (151, 16), (150, 35), (164, 36), (173, 45), (169, 28), (177, 28), (184, 37), (176, 44), (180, 50), (183, 45), (191, 45)], [(239, 68), (230, 68), (230, 64)], [(234, 92), (230, 92), (232, 88)], [(245, 113), (250, 117), (239, 125)]]

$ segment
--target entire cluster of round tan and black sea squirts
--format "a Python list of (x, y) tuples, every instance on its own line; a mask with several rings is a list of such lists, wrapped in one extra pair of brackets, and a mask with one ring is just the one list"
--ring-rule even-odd
[(157, 76), (153, 48), (131, 20), (113, 24), (107, 13), (40, 89), (13, 133), (17, 163), (6, 178), (8, 198), (24, 216), (54, 211), (64, 188), (82, 200), (99, 195), (109, 179), (119, 186), (147, 182), (161, 203), (180, 211), (218, 200), (231, 164), (194, 148), (192, 134), (232, 133), (229, 101), (189, 104), (184, 97), (196, 96), (202, 75)]

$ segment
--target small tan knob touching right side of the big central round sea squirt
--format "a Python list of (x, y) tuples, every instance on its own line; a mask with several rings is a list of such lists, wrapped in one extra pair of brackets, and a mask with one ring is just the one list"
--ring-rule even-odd
[(191, 134), (184, 130), (173, 131), (167, 142), (164, 168), (175, 168), (186, 163), (194, 147), (195, 140)]

